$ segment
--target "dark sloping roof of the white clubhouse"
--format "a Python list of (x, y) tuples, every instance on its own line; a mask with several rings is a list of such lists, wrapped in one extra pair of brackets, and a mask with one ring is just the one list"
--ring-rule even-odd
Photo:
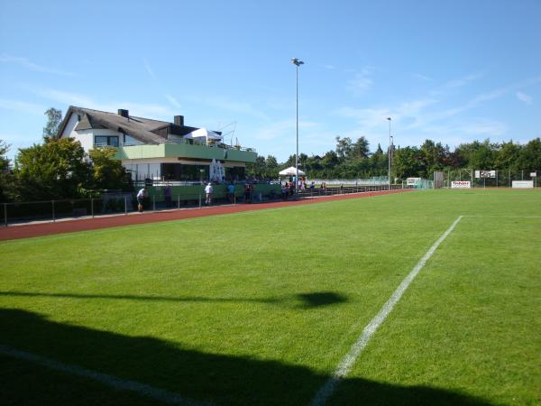
[(142, 143), (170, 143), (167, 134), (186, 135), (197, 127), (187, 125), (174, 125), (167, 121), (152, 120), (150, 118), (129, 115), (124, 117), (116, 113), (108, 113), (90, 108), (69, 106), (64, 120), (59, 127), (59, 134), (64, 132), (72, 114), (81, 115), (76, 130), (91, 128), (109, 128), (113, 131), (128, 134)]

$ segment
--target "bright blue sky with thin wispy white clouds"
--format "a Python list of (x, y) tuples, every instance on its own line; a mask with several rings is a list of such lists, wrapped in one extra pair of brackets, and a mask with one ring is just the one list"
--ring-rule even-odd
[[(235, 128), (261, 155), (541, 136), (541, 1), (0, 0), (0, 139), (69, 105)], [(233, 125), (235, 123), (235, 125)], [(226, 126), (229, 125), (229, 126)], [(230, 142), (230, 135), (225, 139)], [(235, 141), (235, 140), (233, 140)]]

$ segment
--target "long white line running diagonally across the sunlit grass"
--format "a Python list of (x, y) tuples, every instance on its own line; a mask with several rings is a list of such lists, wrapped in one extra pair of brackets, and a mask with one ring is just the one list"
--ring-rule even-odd
[(404, 292), (408, 289), (409, 284), (415, 279), (417, 273), (423, 269), (426, 262), (436, 252), (437, 247), (442, 244), (447, 237), (454, 230), (454, 227), (462, 220), (463, 216), (459, 216), (454, 220), (454, 223), (447, 228), (447, 231), (441, 235), (436, 243), (430, 247), (426, 254), (420, 259), (415, 267), (408, 273), (408, 276), (399, 284), (396, 291), (393, 292), (390, 299), (383, 305), (379, 313), (371, 319), (370, 323), (362, 330), (362, 335), (357, 338), (357, 341), (350, 348), (349, 353), (344, 356), (340, 364), (335, 369), (335, 372), (331, 378), (317, 391), (316, 396), (310, 401), (310, 406), (322, 406), (326, 403), (329, 397), (335, 392), (335, 387), (344, 377), (350, 373), (353, 364), (361, 355), (362, 350), (366, 347), (373, 334), (381, 326), (385, 318), (389, 316), (394, 306), (398, 303)]

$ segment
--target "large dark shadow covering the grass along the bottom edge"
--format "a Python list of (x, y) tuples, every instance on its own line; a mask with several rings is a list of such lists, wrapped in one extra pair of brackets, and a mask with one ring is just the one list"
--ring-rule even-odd
[[(206, 354), (152, 337), (128, 337), (60, 324), (20, 309), (0, 310), (0, 345), (145, 383), (217, 405), (307, 405), (326, 374), (300, 365)], [(0, 356), (3, 404), (160, 404), (136, 392)], [(346, 379), (329, 405), (488, 406), (468, 395), (429, 387), (401, 387)]]

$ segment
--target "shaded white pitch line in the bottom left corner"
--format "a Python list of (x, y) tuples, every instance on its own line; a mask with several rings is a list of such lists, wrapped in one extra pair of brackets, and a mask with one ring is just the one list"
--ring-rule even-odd
[(46, 358), (41, 355), (34, 355), (24, 351), (19, 351), (10, 346), (0, 345), (0, 354), (12, 356), (14, 358), (23, 359), (25, 361), (30, 361), (34, 364), (40, 364), (50, 369), (55, 369), (57, 371), (65, 372), (68, 374), (74, 374), (82, 376), (84, 378), (89, 378), (99, 383), (103, 383), (107, 386), (110, 386), (115, 389), (123, 389), (125, 391), (138, 392), (142, 395), (153, 398), (157, 401), (163, 401), (170, 404), (179, 404), (187, 406), (210, 406), (212, 403), (203, 402), (203, 401), (194, 401), (183, 396), (180, 396), (175, 392), (168, 392), (162, 389), (154, 388), (150, 385), (144, 383), (138, 383), (135, 381), (128, 381), (125, 379), (117, 378), (112, 375), (102, 374), (96, 371), (89, 369), (81, 368), (77, 365), (72, 364), (63, 364), (58, 361), (55, 361), (50, 358)]

